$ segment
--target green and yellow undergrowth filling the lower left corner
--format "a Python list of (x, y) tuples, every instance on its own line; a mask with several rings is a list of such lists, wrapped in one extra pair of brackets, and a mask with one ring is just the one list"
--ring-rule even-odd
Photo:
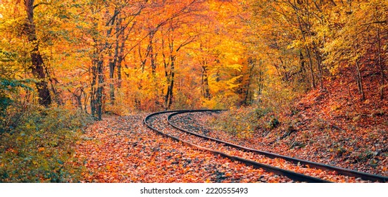
[(77, 182), (75, 141), (91, 118), (80, 111), (10, 106), (0, 117), (0, 182)]

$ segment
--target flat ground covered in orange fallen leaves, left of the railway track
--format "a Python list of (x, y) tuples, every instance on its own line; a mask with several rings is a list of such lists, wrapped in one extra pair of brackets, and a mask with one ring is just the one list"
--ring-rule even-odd
[(144, 116), (106, 117), (87, 129), (77, 144), (82, 182), (293, 182), (156, 134)]

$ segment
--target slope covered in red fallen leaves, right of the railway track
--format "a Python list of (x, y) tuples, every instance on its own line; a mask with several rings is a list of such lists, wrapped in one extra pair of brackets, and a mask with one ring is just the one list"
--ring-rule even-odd
[[(388, 102), (360, 101), (349, 97), (348, 90), (339, 86), (328, 89), (311, 91), (292, 105), (292, 111), (276, 114), (279, 126), (257, 128), (249, 137), (213, 128), (211, 122), (223, 118), (227, 124), (233, 118), (229, 112), (192, 115), (185, 122), (191, 122), (188, 129), (234, 144), (388, 176)], [(378, 95), (368, 95), (372, 96)], [(246, 113), (244, 109), (237, 110), (241, 110), (239, 114)], [(266, 118), (254, 121), (270, 120)]]

